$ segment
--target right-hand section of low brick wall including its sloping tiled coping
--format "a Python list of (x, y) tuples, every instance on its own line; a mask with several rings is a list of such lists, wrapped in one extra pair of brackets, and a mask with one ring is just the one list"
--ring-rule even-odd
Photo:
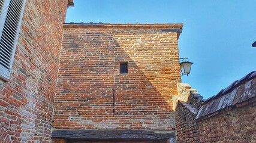
[(201, 142), (256, 142), (256, 71), (205, 101), (196, 119)]

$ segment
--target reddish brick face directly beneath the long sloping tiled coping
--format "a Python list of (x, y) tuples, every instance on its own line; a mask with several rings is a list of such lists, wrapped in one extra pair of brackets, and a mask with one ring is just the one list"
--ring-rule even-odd
[(200, 142), (256, 142), (256, 102), (251, 101), (198, 121)]

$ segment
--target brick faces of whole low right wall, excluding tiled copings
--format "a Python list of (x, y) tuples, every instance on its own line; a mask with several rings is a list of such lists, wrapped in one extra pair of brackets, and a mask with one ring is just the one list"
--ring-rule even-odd
[(256, 142), (256, 102), (227, 108), (195, 120), (180, 102), (176, 108), (177, 142)]

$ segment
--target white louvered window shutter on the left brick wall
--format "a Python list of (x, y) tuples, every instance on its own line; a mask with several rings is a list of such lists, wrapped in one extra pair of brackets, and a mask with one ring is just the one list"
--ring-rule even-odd
[(0, 76), (8, 80), (22, 23), (25, 0), (0, 1)]

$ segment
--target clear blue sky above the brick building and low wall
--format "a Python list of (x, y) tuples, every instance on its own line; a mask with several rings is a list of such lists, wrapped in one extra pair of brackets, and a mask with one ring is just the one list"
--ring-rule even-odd
[(209, 98), (256, 70), (256, 1), (74, 0), (67, 23), (184, 23), (180, 57), (193, 62), (183, 83)]

